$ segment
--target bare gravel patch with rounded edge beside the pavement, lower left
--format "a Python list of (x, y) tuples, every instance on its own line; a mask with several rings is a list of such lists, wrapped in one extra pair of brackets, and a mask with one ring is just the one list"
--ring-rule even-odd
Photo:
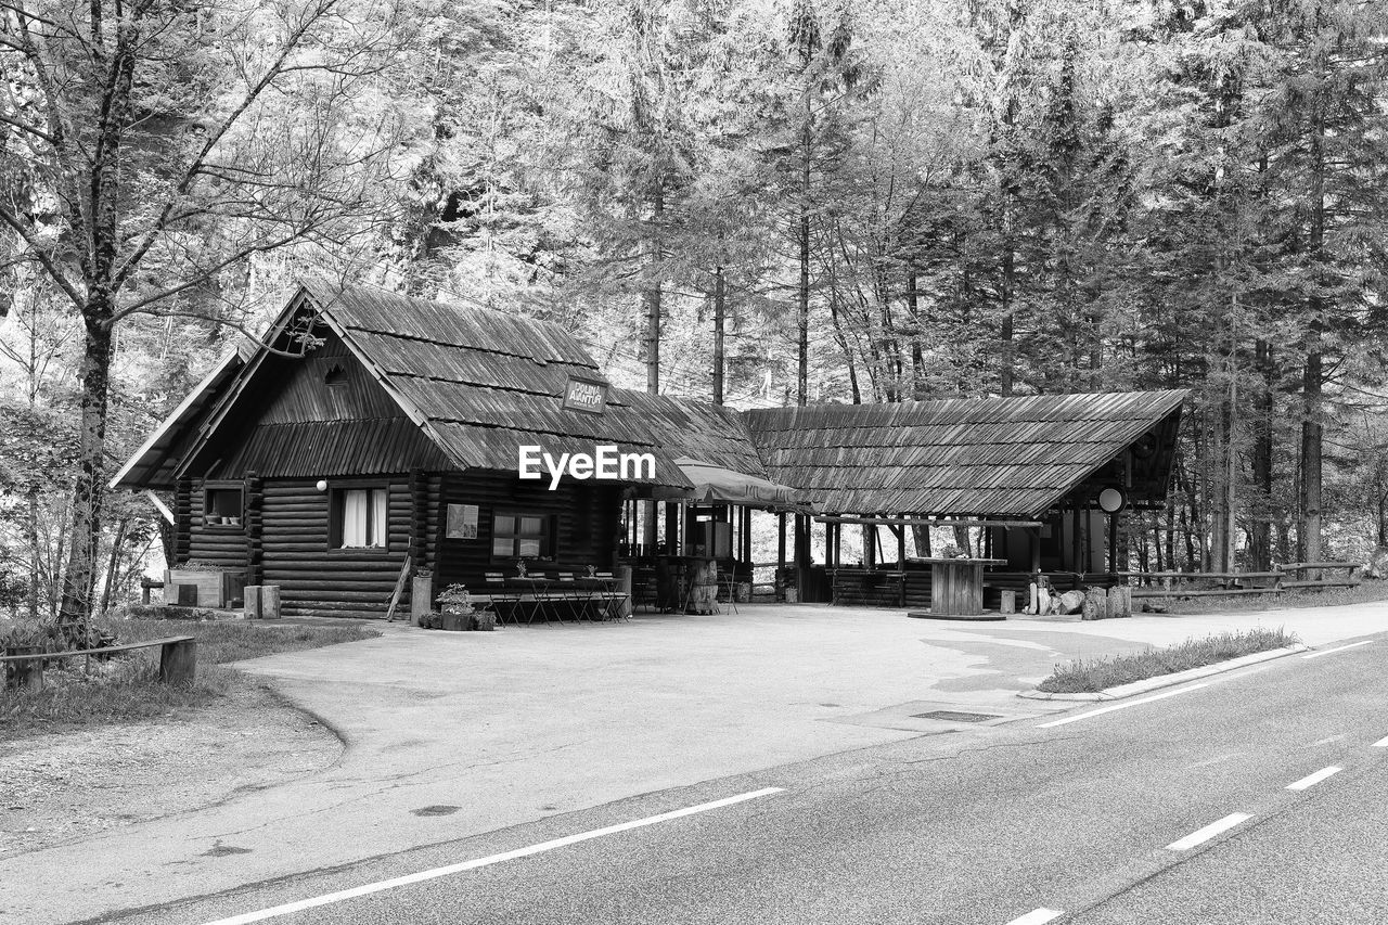
[(0, 742), (0, 858), (275, 786), (341, 750), (255, 682), (178, 718)]

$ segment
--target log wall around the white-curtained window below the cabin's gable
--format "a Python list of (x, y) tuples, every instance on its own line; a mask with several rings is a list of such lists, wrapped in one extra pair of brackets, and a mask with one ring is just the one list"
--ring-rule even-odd
[(384, 617), (414, 529), (408, 476), (389, 479), (386, 550), (329, 549), (332, 494), (310, 479), (264, 481), (261, 582), (279, 585), (286, 615)]

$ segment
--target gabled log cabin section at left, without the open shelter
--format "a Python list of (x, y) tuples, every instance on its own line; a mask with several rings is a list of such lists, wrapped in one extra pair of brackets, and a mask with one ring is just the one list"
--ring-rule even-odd
[[(286, 614), (376, 617), (407, 557), (434, 590), (520, 558), (611, 569), (623, 493), (691, 488), (622, 394), (555, 324), (308, 283), (111, 485), (172, 496), (171, 567), (210, 576), (180, 579), (200, 603), (278, 585)], [(600, 444), (654, 472), (518, 476), (520, 446)]]

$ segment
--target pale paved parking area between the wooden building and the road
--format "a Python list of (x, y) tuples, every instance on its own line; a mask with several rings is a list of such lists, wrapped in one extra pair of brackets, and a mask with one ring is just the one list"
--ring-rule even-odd
[[(744, 606), (493, 633), (393, 625), (380, 639), (242, 665), (346, 739), (328, 772), (12, 858), (0, 883), (69, 872), (67, 907), (22, 919), (69, 921), (920, 735), (938, 728), (915, 717), (931, 708), (1066, 708), (1015, 694), (1073, 657), (1252, 625), (1324, 644), (1377, 632), (1385, 617), (1362, 604), (956, 624)], [(22, 910), (6, 892), (0, 908)]]

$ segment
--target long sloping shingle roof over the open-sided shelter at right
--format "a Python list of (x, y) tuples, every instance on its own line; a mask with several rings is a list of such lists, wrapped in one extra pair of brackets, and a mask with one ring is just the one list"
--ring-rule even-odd
[[(1187, 392), (761, 408), (743, 419), (772, 479), (830, 514), (1037, 517), (1144, 433), (1169, 444)], [(1165, 461), (1153, 485), (1165, 492)]]

